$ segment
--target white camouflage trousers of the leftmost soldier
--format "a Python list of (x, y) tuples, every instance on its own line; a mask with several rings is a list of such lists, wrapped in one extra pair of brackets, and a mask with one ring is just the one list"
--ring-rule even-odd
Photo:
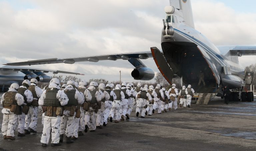
[(16, 129), (16, 122), (18, 115), (16, 114), (4, 114), (2, 123), (2, 134), (6, 136), (14, 136), (14, 131)]

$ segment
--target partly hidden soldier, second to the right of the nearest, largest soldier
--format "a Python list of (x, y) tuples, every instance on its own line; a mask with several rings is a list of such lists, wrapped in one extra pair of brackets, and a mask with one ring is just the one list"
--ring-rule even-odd
[[(84, 100), (85, 102), (84, 103), (87, 103), (87, 101), (91, 101), (92, 95), (91, 95), (90, 91), (88, 89), (86, 89), (86, 82), (84, 80), (81, 80), (79, 82), (78, 91), (80, 91), (81, 93), (84, 94), (84, 97), (85, 97), (85, 100)], [(83, 133), (83, 131), (85, 129), (85, 124), (84, 124), (85, 110), (84, 110), (84, 106), (85, 106), (84, 104), (81, 105), (81, 115), (80, 115), (80, 119), (79, 119), (78, 136), (84, 135), (84, 133)]]

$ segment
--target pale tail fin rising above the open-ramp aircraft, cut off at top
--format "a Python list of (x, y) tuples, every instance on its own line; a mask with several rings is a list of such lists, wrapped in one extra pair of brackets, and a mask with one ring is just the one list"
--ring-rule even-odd
[(185, 23), (188, 26), (195, 28), (193, 14), (192, 14), (191, 0), (169, 0), (169, 1), (171, 6), (179, 9), (182, 12)]

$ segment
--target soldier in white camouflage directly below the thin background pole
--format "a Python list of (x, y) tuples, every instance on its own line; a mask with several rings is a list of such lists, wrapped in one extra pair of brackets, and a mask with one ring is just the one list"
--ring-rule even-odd
[(116, 99), (112, 103), (112, 108), (109, 113), (109, 121), (112, 122), (112, 119), (115, 120), (115, 123), (119, 123), (121, 118), (120, 108), (122, 106), (121, 101), (125, 98), (124, 92), (121, 91), (121, 85), (116, 84), (114, 93), (116, 94)]

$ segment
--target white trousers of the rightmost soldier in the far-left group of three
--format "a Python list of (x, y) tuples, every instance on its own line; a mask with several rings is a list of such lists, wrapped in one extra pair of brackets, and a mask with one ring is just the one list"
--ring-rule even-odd
[(29, 106), (29, 112), (25, 118), (25, 129), (29, 130), (29, 128), (36, 131), (37, 128), (37, 114), (38, 114), (38, 106)]

